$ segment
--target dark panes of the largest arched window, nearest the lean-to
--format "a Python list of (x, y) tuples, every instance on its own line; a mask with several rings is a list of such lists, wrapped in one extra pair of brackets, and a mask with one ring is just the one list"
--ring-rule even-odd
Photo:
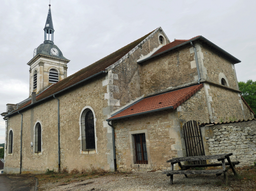
[(94, 116), (91, 110), (85, 115), (85, 135), (82, 137), (82, 149), (95, 149)]

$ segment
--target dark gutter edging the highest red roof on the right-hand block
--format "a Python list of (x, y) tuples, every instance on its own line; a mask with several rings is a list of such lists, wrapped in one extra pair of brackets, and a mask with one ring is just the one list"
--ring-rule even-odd
[[(208, 41), (208, 40), (207, 40), (206, 38), (204, 38), (203, 36), (196, 37), (196, 38), (192, 39), (191, 41), (196, 41), (196, 40), (198, 40), (198, 39), (202, 39), (203, 41), (205, 41), (205, 42), (207, 42), (208, 44), (214, 46), (216, 49), (220, 50), (220, 51), (223, 52), (224, 54), (227, 54), (227, 56), (229, 56), (229, 57), (231, 57), (232, 59), (236, 60), (236, 63), (233, 63), (233, 64), (241, 63), (241, 60), (238, 60), (236, 57), (234, 57), (234, 56), (232, 56), (231, 54), (229, 54), (228, 52), (224, 51), (222, 48), (218, 47), (218, 46), (215, 45), (214, 43)], [(141, 60), (141, 61), (139, 61), (139, 62), (137, 62), (137, 63), (138, 63), (138, 64), (143, 63), (144, 61), (147, 61), (147, 60), (150, 60), (150, 59), (155, 58), (155, 57), (157, 57), (157, 56), (160, 56), (161, 54), (164, 54), (164, 53), (166, 53), (166, 52), (169, 52), (169, 51), (171, 51), (171, 50), (174, 50), (174, 49), (176, 49), (176, 48), (178, 48), (178, 47), (180, 47), (180, 46), (183, 46), (183, 45), (185, 45), (185, 44), (188, 44), (188, 43), (190, 43), (190, 41), (187, 41), (187, 42), (184, 42), (184, 43), (179, 44), (179, 45), (177, 45), (177, 46), (174, 46), (174, 47), (172, 47), (172, 48), (170, 48), (170, 49), (168, 49), (168, 50), (165, 50), (165, 51), (163, 51), (163, 52), (160, 52), (160, 53), (158, 53), (158, 54), (155, 54), (154, 56), (145, 58), (144, 60)]]

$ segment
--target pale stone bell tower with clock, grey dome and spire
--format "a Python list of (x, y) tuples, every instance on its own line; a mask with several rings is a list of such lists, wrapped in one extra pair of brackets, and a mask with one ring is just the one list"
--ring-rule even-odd
[(27, 63), (30, 66), (29, 96), (32, 92), (38, 94), (67, 77), (67, 63), (70, 60), (66, 59), (59, 47), (53, 43), (54, 29), (50, 5), (43, 30), (43, 44), (34, 50), (33, 58)]

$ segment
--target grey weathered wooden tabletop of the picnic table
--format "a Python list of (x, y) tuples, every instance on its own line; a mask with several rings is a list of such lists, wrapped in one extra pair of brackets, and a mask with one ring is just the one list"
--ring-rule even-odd
[(189, 157), (173, 158), (166, 162), (175, 162), (176, 163), (176, 162), (182, 162), (182, 161), (201, 161), (201, 160), (210, 160), (210, 159), (225, 159), (231, 155), (233, 155), (233, 153), (209, 155), (209, 156), (189, 156)]

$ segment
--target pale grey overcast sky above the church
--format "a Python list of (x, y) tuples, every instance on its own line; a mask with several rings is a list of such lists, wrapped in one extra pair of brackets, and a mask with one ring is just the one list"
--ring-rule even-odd
[[(0, 113), (29, 95), (33, 51), (43, 43), (48, 0), (0, 0)], [(256, 1), (52, 0), (54, 44), (68, 75), (162, 27), (170, 41), (202, 35), (242, 62), (238, 81), (256, 80)], [(0, 143), (5, 141), (0, 119)]]

